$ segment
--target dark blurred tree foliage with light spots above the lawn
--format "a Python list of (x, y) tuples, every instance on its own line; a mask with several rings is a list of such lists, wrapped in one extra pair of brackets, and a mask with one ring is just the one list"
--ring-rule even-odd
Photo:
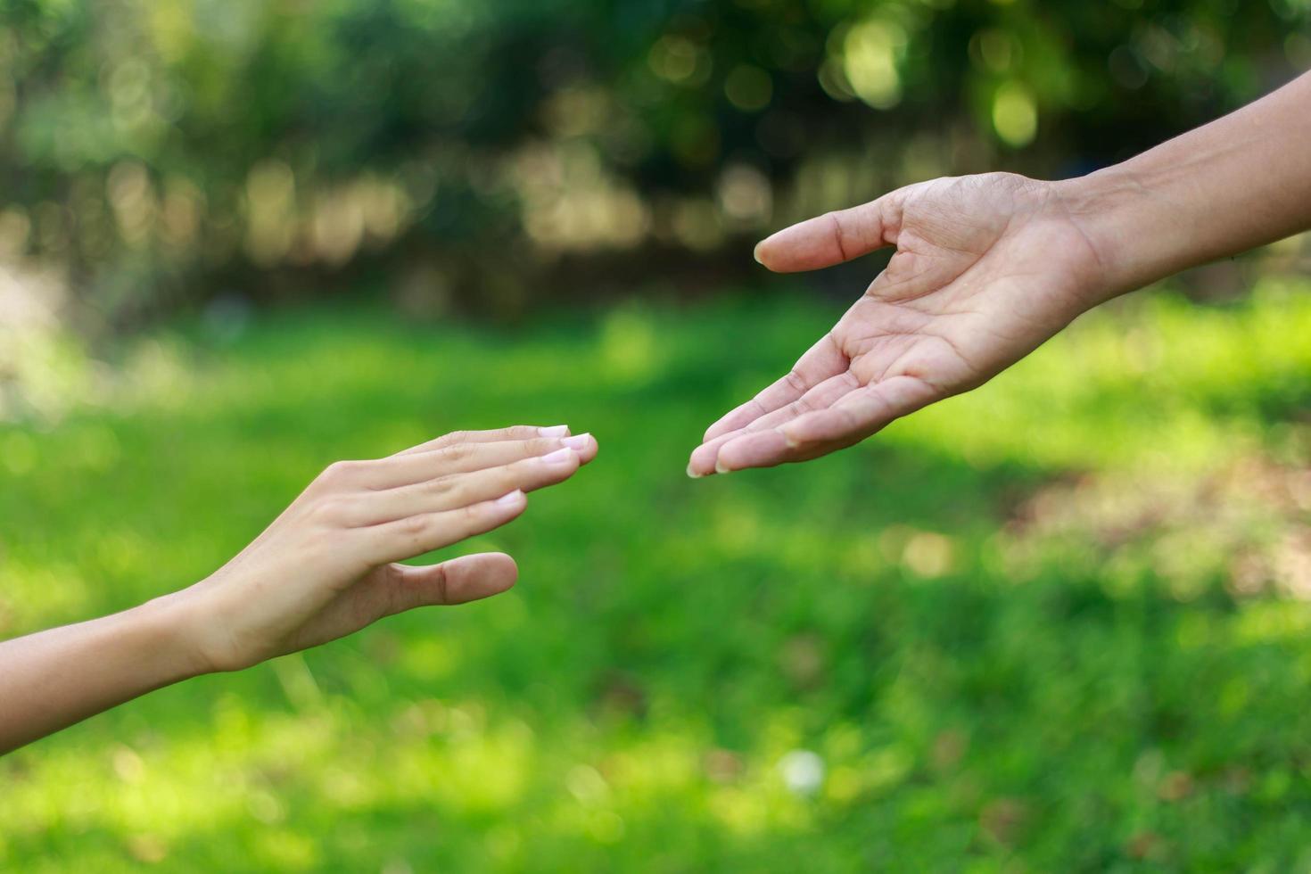
[(117, 322), (361, 271), (513, 311), (918, 178), (1083, 172), (1311, 67), (1308, 0), (7, 0), (0, 28), (0, 245)]

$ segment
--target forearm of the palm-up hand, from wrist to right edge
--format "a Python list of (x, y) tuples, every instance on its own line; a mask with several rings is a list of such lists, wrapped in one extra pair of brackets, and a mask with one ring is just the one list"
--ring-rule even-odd
[(1311, 228), (1311, 73), (1205, 127), (1057, 183), (1103, 299)]

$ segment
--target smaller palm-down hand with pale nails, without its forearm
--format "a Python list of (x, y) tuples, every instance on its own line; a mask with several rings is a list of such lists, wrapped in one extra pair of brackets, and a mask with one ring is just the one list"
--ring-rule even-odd
[(515, 519), (526, 491), (568, 480), (597, 448), (564, 426), (519, 426), (333, 464), (236, 558), (178, 592), (199, 663), (239, 670), (392, 613), (506, 591), (518, 569), (501, 553), (395, 562)]

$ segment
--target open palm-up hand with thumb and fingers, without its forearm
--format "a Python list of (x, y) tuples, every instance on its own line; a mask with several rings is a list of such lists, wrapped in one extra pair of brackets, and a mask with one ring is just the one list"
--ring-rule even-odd
[(705, 432), (688, 474), (804, 461), (991, 379), (1096, 303), (1096, 250), (1053, 183), (990, 173), (893, 191), (780, 231), (775, 271), (897, 246), (791, 372)]

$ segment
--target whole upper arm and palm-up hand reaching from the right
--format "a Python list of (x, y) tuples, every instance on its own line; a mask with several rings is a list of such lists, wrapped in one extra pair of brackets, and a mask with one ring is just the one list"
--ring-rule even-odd
[(770, 270), (897, 252), (783, 379), (707, 430), (688, 476), (805, 461), (986, 383), (1071, 320), (1311, 228), (1311, 73), (1117, 166), (933, 180), (779, 231)]

